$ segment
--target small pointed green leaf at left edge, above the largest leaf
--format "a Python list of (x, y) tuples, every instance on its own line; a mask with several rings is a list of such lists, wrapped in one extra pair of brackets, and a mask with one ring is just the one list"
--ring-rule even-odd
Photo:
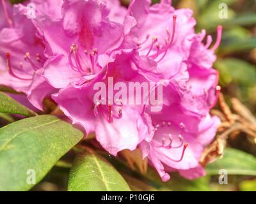
[(36, 115), (32, 110), (29, 110), (29, 108), (21, 105), (19, 102), (15, 101), (15, 99), (7, 96), (3, 92), (0, 92), (0, 113), (12, 113), (28, 117)]

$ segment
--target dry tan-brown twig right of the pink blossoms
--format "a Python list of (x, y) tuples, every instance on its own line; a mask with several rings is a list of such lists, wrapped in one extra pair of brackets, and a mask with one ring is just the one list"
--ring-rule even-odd
[(223, 94), (220, 94), (219, 98), (221, 111), (211, 111), (212, 115), (217, 115), (221, 119), (221, 125), (218, 128), (219, 134), (216, 136), (214, 142), (204, 150), (204, 154), (200, 159), (202, 166), (223, 156), (228, 137), (234, 139), (239, 133), (246, 133), (246, 135), (256, 139), (256, 119), (253, 114), (238, 99), (232, 98), (230, 101), (235, 113), (232, 113)]

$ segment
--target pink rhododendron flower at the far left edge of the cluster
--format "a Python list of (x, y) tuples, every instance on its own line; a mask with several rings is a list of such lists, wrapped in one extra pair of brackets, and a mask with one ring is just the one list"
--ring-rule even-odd
[[(1, 8), (5, 10), (4, 3)], [(28, 95), (29, 101), (42, 109), (42, 100), (54, 89), (42, 77), (44, 43), (36, 36), (36, 29), (26, 17), (27, 9), (21, 4), (13, 6), (13, 13), (6, 14), (12, 23), (0, 31), (0, 55), (6, 59), (1, 64), (1, 84)], [(7, 13), (7, 11), (6, 11)], [(35, 89), (40, 89), (36, 94)]]

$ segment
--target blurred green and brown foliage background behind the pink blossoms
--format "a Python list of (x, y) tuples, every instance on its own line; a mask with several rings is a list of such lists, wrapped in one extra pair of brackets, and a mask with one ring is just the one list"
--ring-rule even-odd
[[(12, 0), (12, 3), (20, 1)], [(158, 1), (154, 0), (154, 3)], [(219, 17), (220, 4), (227, 4), (228, 18)], [(129, 0), (122, 0), (127, 6)], [(217, 50), (218, 60), (214, 68), (220, 71), (222, 92), (229, 99), (236, 97), (256, 115), (256, 0), (173, 0), (175, 8), (191, 8), (197, 20), (196, 31), (205, 29), (216, 37), (216, 26), (223, 25), (223, 37)], [(207, 176), (198, 180), (185, 180), (172, 175), (170, 182), (159, 180), (154, 170), (147, 176), (127, 167), (122, 161), (108, 159), (124, 173), (134, 190), (178, 191), (256, 191), (256, 141), (240, 134), (236, 140), (228, 140), (223, 159), (207, 166)], [(218, 171), (228, 170), (228, 184), (220, 185)], [(56, 166), (34, 190), (65, 190), (68, 170)]]

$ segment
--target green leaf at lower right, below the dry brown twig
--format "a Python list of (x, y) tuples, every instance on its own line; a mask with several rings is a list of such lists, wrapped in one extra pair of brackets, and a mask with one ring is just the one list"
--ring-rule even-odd
[(221, 169), (227, 170), (229, 175), (256, 175), (256, 157), (227, 148), (223, 158), (208, 164), (206, 171), (209, 175), (218, 175)]

